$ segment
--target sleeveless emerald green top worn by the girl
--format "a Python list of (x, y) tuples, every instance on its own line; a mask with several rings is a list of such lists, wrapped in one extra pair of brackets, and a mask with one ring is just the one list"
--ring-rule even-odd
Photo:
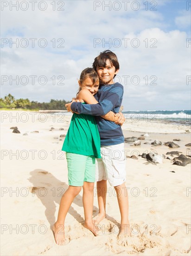
[(101, 158), (100, 135), (94, 116), (73, 114), (62, 150)]

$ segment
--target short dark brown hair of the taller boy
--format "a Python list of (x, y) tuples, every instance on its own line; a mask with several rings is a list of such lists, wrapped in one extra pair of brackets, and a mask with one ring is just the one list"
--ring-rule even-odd
[(115, 70), (120, 68), (117, 56), (110, 50), (103, 51), (94, 59), (93, 68), (96, 70), (97, 67), (106, 67), (107, 60), (109, 60), (111, 65), (115, 67)]

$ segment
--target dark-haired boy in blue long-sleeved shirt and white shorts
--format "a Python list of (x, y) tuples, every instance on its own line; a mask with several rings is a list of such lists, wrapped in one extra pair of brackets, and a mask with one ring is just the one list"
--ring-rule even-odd
[(101, 156), (97, 159), (97, 196), (99, 205), (99, 214), (95, 224), (102, 221), (106, 216), (106, 192), (107, 180), (111, 186), (114, 186), (121, 213), (121, 229), (122, 235), (130, 235), (128, 221), (128, 197), (125, 186), (126, 169), (125, 169), (125, 151), (124, 136), (121, 126), (112, 121), (102, 118), (110, 110), (118, 113), (123, 96), (123, 86), (114, 83), (114, 77), (119, 71), (119, 62), (117, 56), (109, 51), (103, 51), (94, 60), (93, 67), (96, 70), (100, 87), (95, 95), (97, 104), (82, 104), (81, 102), (70, 102), (66, 104), (68, 111), (95, 115), (97, 127), (101, 139)]

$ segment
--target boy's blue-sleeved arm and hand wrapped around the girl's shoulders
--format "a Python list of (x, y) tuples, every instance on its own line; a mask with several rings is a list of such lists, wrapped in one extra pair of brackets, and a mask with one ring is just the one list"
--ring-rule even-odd
[(115, 108), (119, 98), (123, 95), (123, 88), (115, 87), (108, 92), (108, 95), (103, 101), (97, 104), (82, 104), (81, 102), (72, 102), (66, 104), (67, 109), (73, 112), (83, 113), (88, 115), (106, 115), (109, 111)]

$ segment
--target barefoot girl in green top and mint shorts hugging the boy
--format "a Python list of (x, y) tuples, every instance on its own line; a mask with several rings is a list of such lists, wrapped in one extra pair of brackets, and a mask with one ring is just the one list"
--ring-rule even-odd
[[(99, 77), (93, 68), (86, 68), (80, 75), (79, 90), (76, 100), (88, 104), (97, 104), (94, 98), (99, 88)], [(109, 114), (109, 115), (108, 115)], [(110, 111), (102, 116), (109, 121), (121, 124), (121, 115)], [(116, 118), (117, 116), (117, 118)], [(118, 120), (116, 120), (118, 119)], [(58, 245), (66, 243), (64, 236), (64, 221), (76, 195), (83, 187), (84, 227), (95, 236), (98, 230), (94, 228), (93, 214), (93, 189), (96, 172), (96, 158), (100, 155), (100, 136), (94, 116), (74, 113), (68, 133), (65, 137), (62, 150), (66, 151), (68, 165), (69, 188), (60, 201), (57, 221), (53, 225), (55, 241)]]

